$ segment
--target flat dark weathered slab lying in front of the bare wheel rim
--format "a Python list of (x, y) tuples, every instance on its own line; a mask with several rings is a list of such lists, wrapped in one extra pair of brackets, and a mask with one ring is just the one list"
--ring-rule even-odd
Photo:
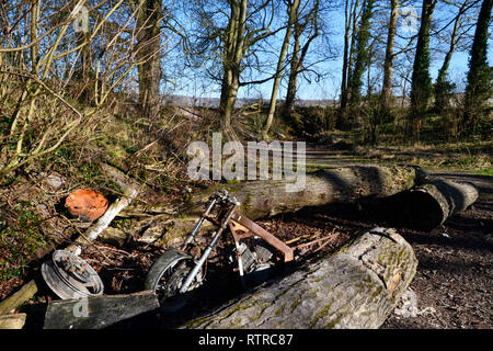
[(102, 329), (159, 308), (151, 291), (128, 295), (102, 295), (48, 304), (44, 329)]

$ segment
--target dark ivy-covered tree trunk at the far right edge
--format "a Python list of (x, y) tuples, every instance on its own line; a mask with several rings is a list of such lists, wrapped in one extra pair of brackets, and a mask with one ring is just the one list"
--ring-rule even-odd
[(491, 19), (493, 0), (483, 0), (474, 41), (469, 58), (468, 86), (466, 88), (463, 132), (474, 132), (478, 115), (481, 114), (483, 103), (491, 97), (493, 69), (488, 64), (488, 27)]

